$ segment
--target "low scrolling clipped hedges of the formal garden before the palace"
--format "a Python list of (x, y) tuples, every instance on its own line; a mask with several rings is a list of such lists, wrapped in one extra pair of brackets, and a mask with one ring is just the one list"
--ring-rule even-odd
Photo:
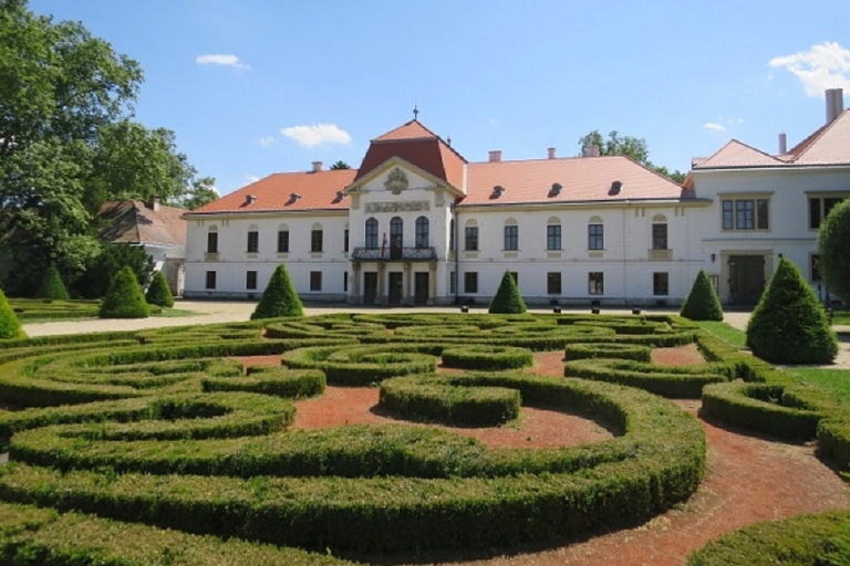
[[(695, 340), (711, 361), (649, 361)], [(564, 353), (566, 377), (535, 374), (532, 353), (547, 350)], [(145, 539), (148, 560), (187, 549), (163, 564), (345, 564), (336, 556), (639, 524), (696, 490), (705, 438), (623, 385), (698, 397), (759, 371), (677, 317), (340, 314), (8, 340), (0, 401), (22, 410), (0, 412), (0, 562), (76, 564), (92, 548), (99, 564), (149, 564), (128, 543)], [(398, 423), (292, 429), (296, 401), (326, 385), (380, 388)], [(733, 397), (821, 415), (775, 394)], [(579, 413), (614, 438), (506, 449), (419, 426), (510, 426), (522, 407)]]

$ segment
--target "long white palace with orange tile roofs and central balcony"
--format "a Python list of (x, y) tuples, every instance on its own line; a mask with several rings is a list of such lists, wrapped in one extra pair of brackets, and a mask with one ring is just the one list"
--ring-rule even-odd
[(850, 196), (850, 112), (777, 154), (732, 140), (683, 186), (621, 156), (469, 163), (413, 119), (359, 169), (274, 174), (184, 214), (186, 297), (257, 298), (284, 263), (302, 300), (487, 304), (514, 274), (529, 305), (677, 305), (699, 270), (753, 304), (777, 260), (820, 285), (820, 221)]

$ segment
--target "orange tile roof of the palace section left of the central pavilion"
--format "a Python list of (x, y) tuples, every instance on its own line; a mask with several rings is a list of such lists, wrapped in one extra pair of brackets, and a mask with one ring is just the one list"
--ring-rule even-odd
[(340, 198), (338, 192), (354, 180), (356, 172), (356, 169), (335, 169), (270, 175), (197, 208), (190, 214), (317, 209), (348, 210), (348, 199)]

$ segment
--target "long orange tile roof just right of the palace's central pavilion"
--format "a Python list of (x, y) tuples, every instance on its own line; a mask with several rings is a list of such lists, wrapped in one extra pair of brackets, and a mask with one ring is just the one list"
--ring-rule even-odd
[[(612, 190), (614, 181), (620, 181), (620, 190)], [(561, 186), (559, 191), (552, 189), (554, 184)], [(504, 189), (499, 196), (496, 186)], [(682, 190), (622, 156), (487, 161), (469, 165), (467, 197), (460, 206), (678, 199)]]

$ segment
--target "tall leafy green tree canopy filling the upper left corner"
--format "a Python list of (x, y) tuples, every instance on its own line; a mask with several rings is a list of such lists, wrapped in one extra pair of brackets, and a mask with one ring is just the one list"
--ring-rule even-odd
[(66, 280), (85, 269), (105, 200), (187, 192), (195, 169), (174, 133), (132, 120), (142, 80), (81, 23), (0, 0), (0, 253), (23, 286), (50, 265)]

